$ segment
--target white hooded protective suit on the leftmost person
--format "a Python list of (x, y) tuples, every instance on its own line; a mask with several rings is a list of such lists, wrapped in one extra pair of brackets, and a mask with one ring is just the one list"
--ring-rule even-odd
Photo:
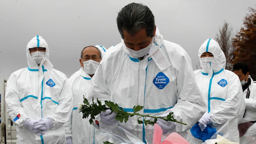
[[(29, 53), (29, 48), (34, 47), (46, 48), (45, 57), (39, 67)], [(71, 93), (64, 88), (67, 77), (52, 68), (48, 45), (41, 36), (31, 39), (26, 53), (28, 67), (11, 74), (5, 93), (7, 113), (17, 128), (17, 143), (66, 143), (63, 124), (72, 112)], [(53, 127), (38, 136), (24, 127), (28, 118), (50, 118)]]

